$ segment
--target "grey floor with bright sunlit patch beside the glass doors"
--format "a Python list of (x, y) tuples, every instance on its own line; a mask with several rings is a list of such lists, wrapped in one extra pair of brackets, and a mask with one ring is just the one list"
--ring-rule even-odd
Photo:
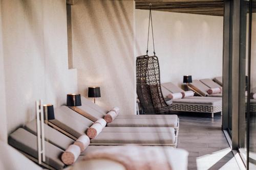
[(178, 147), (189, 152), (188, 169), (240, 169), (221, 130), (221, 115), (179, 115)]

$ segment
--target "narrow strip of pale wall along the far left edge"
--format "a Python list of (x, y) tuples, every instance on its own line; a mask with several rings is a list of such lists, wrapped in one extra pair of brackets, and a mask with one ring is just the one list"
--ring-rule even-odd
[(2, 12), (0, 0), (0, 140), (7, 141), (6, 105), (5, 105), (5, 72), (2, 41)]

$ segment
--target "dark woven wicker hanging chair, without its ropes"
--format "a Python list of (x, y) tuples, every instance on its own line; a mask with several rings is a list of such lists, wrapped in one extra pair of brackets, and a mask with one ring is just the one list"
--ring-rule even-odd
[(172, 107), (163, 98), (157, 56), (137, 57), (136, 86), (140, 105), (145, 114), (166, 112)]

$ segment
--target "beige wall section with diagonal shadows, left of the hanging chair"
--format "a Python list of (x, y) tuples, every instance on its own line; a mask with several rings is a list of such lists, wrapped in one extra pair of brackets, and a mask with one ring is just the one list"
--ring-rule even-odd
[[(135, 114), (134, 1), (76, 1), (72, 6), (73, 66), (78, 92), (100, 86), (100, 106)], [(93, 101), (93, 99), (91, 99)]]

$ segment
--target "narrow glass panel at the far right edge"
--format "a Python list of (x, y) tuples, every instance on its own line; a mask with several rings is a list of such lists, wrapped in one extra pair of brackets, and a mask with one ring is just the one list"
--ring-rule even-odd
[[(250, 133), (249, 133), (249, 168), (256, 169), (256, 1), (252, 1), (251, 20), (251, 61), (250, 61)], [(253, 95), (254, 94), (254, 95)]]

